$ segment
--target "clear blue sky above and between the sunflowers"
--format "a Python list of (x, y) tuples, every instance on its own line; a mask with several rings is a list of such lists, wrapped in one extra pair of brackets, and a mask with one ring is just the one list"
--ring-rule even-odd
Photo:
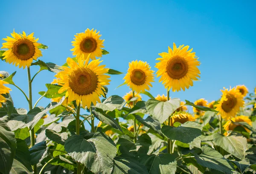
[[(245, 2), (245, 1), (244, 1)], [(43, 50), (45, 62), (58, 65), (72, 57), (74, 35), (85, 29), (97, 29), (105, 39), (110, 54), (102, 57), (107, 67), (126, 73), (128, 62), (147, 61), (156, 71), (158, 53), (167, 52), (172, 43), (185, 44), (201, 61), (201, 81), (185, 92), (171, 92), (181, 100), (218, 99), (223, 87), (244, 84), (253, 92), (256, 86), (256, 1), (170, 1), (170, 0), (1, 0), (0, 38), (16, 32), (35, 32), (39, 42), (49, 46)], [(1, 40), (0, 44), (4, 41)], [(0, 70), (17, 71), (15, 83), (27, 92), (26, 69), (0, 61)], [(37, 72), (38, 67), (32, 67)], [(33, 83), (33, 103), (46, 90), (54, 73), (41, 72)], [(124, 96), (122, 75), (111, 76), (109, 94)], [(153, 83), (153, 96), (166, 93), (159, 79)], [(28, 108), (26, 99), (14, 86), (11, 95), (15, 107)], [(143, 96), (144, 100), (148, 97)], [(38, 105), (47, 106), (49, 99)]]

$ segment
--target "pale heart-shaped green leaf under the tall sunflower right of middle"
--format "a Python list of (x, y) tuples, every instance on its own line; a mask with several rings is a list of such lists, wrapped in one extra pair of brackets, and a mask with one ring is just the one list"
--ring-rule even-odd
[(180, 107), (180, 99), (176, 98), (167, 102), (160, 102), (156, 99), (149, 99), (146, 102), (148, 112), (157, 118), (161, 124), (165, 122), (178, 107)]

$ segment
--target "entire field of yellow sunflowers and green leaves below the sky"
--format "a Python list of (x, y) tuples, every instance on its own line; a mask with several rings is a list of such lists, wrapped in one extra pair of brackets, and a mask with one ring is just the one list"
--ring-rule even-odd
[[(48, 46), (34, 33), (3, 40), (1, 63), (26, 69), (28, 88), (15, 83), (18, 73), (0, 71), (0, 174), (256, 173), (256, 90), (238, 84), (220, 89), (216, 101), (171, 98), (200, 83), (189, 46), (173, 43), (155, 65), (134, 60), (121, 72), (106, 68), (96, 29), (75, 35), (63, 65), (41, 60)], [(33, 81), (45, 71), (55, 78), (32, 101)], [(129, 87), (125, 96), (108, 95), (112, 75), (123, 78), (117, 88)], [(152, 96), (156, 78), (166, 92)], [(13, 88), (29, 110), (15, 107)], [(43, 98), (47, 106), (38, 105)]]

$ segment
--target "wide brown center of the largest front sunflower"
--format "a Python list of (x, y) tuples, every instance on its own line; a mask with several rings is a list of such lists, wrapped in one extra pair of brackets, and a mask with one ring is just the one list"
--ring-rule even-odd
[(98, 84), (98, 77), (89, 68), (81, 67), (74, 70), (69, 76), (69, 86), (74, 93), (85, 96), (93, 93)]

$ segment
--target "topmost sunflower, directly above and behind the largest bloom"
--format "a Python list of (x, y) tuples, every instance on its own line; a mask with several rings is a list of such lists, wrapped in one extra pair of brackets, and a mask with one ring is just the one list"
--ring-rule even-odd
[(93, 29), (86, 29), (82, 33), (77, 33), (74, 38), (75, 41), (71, 42), (74, 48), (70, 51), (73, 51), (73, 55), (77, 57), (84, 55), (84, 58), (87, 58), (90, 54), (92, 60), (96, 57), (100, 58), (102, 57), (102, 48), (104, 48), (104, 40), (99, 39), (100, 37), (99, 32), (96, 33), (96, 30)]

